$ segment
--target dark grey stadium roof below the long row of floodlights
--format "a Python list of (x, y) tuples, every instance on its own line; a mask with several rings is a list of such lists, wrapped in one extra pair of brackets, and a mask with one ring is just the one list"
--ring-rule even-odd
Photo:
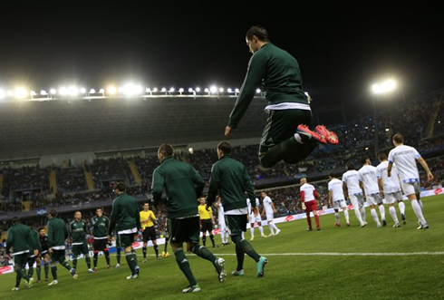
[[(235, 96), (0, 102), (0, 160), (225, 140), (235, 102)], [(232, 139), (261, 135), (265, 105), (255, 97)]]

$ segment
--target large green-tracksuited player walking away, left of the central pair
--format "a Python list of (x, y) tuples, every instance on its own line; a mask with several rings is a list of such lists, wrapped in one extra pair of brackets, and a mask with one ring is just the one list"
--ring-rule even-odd
[(158, 150), (160, 166), (154, 169), (152, 176), (152, 196), (155, 204), (162, 198), (163, 190), (167, 193), (167, 218), (169, 243), (173, 249), (180, 270), (188, 279), (188, 287), (183, 293), (200, 291), (183, 250), (187, 243), (188, 251), (209, 260), (217, 271), (219, 282), (227, 276), (225, 260), (214, 256), (207, 247), (198, 245), (200, 240), (200, 221), (198, 215), (198, 198), (204, 189), (204, 179), (190, 164), (173, 157), (174, 148), (162, 144)]

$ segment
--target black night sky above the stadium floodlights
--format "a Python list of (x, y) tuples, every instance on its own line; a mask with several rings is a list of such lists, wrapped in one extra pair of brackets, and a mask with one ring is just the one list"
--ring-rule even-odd
[(369, 111), (372, 82), (388, 76), (394, 103), (444, 87), (442, 8), (428, 1), (209, 3), (2, 4), (0, 88), (240, 88), (253, 24), (297, 59), (314, 110)]

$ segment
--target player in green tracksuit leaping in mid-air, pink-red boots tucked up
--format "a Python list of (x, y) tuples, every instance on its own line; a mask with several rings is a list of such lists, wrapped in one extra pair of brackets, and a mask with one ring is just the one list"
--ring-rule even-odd
[(318, 142), (337, 143), (337, 136), (323, 125), (316, 126), (316, 131), (308, 128), (312, 111), (296, 59), (272, 44), (265, 28), (259, 25), (246, 32), (246, 44), (253, 56), (225, 135), (231, 135), (236, 129), (260, 86), (268, 113), (259, 145), (259, 160), (263, 167), (272, 168), (280, 160), (295, 164), (304, 160)]

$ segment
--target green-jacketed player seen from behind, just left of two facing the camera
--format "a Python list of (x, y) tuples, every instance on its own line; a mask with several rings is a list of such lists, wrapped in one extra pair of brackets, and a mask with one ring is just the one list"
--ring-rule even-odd
[(74, 280), (79, 277), (75, 268), (65, 260), (65, 240), (68, 237), (68, 228), (64, 224), (63, 219), (57, 218), (57, 211), (51, 209), (48, 215), (48, 252), (51, 255), (51, 274), (53, 275), (53, 281), (48, 285), (57, 285), (59, 283), (57, 279), (57, 261), (70, 271)]

